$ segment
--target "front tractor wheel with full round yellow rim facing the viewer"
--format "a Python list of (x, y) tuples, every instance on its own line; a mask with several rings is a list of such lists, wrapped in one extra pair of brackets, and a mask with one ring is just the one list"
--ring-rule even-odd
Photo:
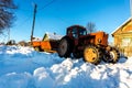
[(97, 65), (101, 62), (101, 51), (97, 46), (89, 45), (85, 47), (84, 59), (86, 62)]

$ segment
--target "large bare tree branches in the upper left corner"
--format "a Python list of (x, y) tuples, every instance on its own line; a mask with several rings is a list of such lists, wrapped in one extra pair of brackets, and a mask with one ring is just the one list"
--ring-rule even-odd
[(0, 0), (0, 34), (4, 29), (11, 28), (14, 21), (14, 9), (16, 6), (13, 0)]

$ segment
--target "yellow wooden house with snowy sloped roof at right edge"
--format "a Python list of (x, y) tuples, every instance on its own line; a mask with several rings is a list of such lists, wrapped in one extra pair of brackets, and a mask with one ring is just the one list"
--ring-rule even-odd
[(114, 46), (119, 47), (124, 56), (132, 56), (132, 18), (112, 32)]

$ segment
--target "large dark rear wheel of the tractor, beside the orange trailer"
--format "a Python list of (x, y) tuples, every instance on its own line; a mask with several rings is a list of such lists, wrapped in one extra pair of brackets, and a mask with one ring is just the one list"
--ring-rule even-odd
[(72, 53), (72, 41), (69, 37), (63, 37), (58, 44), (57, 53), (61, 57), (69, 57)]

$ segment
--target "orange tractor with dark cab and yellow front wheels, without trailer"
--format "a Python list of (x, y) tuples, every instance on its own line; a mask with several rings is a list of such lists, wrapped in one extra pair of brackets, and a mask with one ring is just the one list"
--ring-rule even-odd
[(107, 33), (87, 34), (86, 28), (80, 25), (67, 28), (67, 34), (59, 41), (57, 53), (61, 57), (84, 57), (84, 61), (96, 65), (101, 59), (108, 63), (117, 63), (120, 57), (119, 51), (108, 45)]

